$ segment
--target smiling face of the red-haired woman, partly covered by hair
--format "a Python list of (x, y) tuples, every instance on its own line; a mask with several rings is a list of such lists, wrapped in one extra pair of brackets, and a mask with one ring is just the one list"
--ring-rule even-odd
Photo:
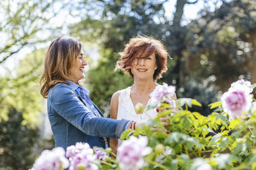
[(152, 53), (152, 55), (146, 57), (145, 59), (135, 59), (132, 61), (131, 72), (133, 74), (134, 81), (148, 79), (153, 80), (156, 69), (155, 53)]

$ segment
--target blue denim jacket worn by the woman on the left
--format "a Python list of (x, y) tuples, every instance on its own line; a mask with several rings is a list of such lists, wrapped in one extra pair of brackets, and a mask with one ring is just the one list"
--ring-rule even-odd
[[(102, 115), (97, 106), (95, 108)], [(129, 122), (104, 118), (103, 115), (97, 117), (74, 88), (65, 83), (58, 83), (49, 90), (47, 112), (55, 146), (64, 149), (79, 141), (86, 142), (91, 147), (105, 148), (102, 137), (120, 138)]]

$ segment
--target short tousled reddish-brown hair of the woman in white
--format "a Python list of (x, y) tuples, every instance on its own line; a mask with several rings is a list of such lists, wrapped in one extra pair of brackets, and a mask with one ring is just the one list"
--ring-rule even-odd
[(132, 78), (131, 66), (134, 59), (145, 59), (146, 57), (155, 53), (157, 69), (153, 75), (153, 79), (157, 80), (162, 77), (162, 74), (167, 71), (168, 52), (164, 49), (161, 41), (157, 39), (148, 38), (147, 36), (136, 36), (131, 38), (129, 43), (125, 45), (119, 60), (116, 62), (116, 69), (121, 69), (128, 73)]

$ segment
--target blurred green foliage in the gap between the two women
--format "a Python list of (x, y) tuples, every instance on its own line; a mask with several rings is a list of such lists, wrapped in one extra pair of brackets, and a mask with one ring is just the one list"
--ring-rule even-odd
[[(128, 85), (132, 85), (132, 78), (127, 74), (124, 75), (121, 71), (114, 71), (116, 55), (113, 55), (109, 49), (102, 50), (102, 59), (96, 67), (90, 69), (87, 73), (89, 84), (90, 98), (97, 106), (104, 110), (105, 113), (109, 112), (109, 103), (111, 96), (117, 90), (126, 88)], [(105, 60), (108, 59), (108, 60)], [(112, 62), (111, 62), (112, 60)], [(104, 73), (104, 74), (102, 74)], [(106, 115), (107, 117), (108, 115)]]

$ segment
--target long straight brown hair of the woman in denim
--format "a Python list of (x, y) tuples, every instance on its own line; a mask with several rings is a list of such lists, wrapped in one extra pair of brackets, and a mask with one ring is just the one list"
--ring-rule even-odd
[(44, 62), (44, 73), (40, 78), (41, 94), (47, 98), (49, 90), (57, 83), (66, 83), (70, 69), (81, 52), (79, 38), (61, 36), (49, 46)]

